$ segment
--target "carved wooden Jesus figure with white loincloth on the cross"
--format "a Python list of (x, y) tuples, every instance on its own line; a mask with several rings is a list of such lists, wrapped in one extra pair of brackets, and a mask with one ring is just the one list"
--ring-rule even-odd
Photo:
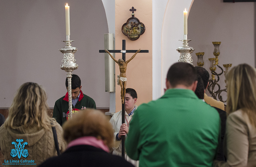
[(105, 49), (105, 52), (107, 52), (110, 57), (119, 65), (120, 75), (117, 75), (117, 84), (121, 86), (121, 100), (122, 104), (124, 104), (124, 97), (125, 97), (125, 87), (126, 87), (126, 68), (127, 64), (139, 53), (141, 49), (137, 50), (137, 52), (131, 57), (131, 59), (124, 61), (123, 59), (119, 59), (118, 61), (109, 53), (107, 49)]

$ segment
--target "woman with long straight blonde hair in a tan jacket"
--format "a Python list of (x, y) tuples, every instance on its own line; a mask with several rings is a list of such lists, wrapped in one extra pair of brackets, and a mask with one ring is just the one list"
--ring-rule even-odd
[(227, 162), (214, 166), (244, 167), (256, 160), (256, 70), (248, 64), (232, 68), (227, 76), (227, 113), (224, 150)]

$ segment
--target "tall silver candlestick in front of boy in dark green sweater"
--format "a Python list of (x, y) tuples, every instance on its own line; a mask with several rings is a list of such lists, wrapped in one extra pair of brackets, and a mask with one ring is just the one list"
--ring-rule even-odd
[(72, 71), (78, 68), (78, 65), (75, 63), (77, 60), (75, 59), (74, 54), (77, 52), (76, 47), (71, 46), (71, 42), (69, 40), (70, 37), (67, 36), (66, 46), (59, 49), (61, 53), (63, 53), (63, 64), (60, 65), (61, 70), (65, 70), (67, 72), (68, 78), (68, 94), (69, 94), (69, 118), (72, 118), (72, 93), (71, 93), (71, 78), (72, 78)]

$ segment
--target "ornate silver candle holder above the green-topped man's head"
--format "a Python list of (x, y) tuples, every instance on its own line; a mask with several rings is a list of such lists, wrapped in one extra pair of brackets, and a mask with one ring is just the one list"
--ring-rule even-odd
[(190, 63), (192, 66), (194, 66), (194, 64), (192, 64), (193, 60), (191, 57), (191, 53), (193, 53), (193, 51), (195, 51), (195, 49), (193, 47), (188, 46), (188, 43), (187, 43), (188, 41), (192, 41), (192, 40), (185, 38), (185, 39), (179, 40), (179, 41), (183, 42), (183, 46), (178, 47), (176, 49), (180, 53), (178, 62), (187, 62), (187, 63)]

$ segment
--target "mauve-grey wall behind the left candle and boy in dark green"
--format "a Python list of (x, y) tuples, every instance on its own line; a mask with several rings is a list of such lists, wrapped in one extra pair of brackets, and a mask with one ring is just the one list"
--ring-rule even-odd
[[(24, 82), (43, 85), (48, 105), (65, 95), (66, 72), (60, 69), (65, 46), (65, 4), (67, 1), (2, 0), (0, 5), (0, 108), (10, 107), (18, 87)], [(75, 53), (82, 91), (97, 107), (109, 107), (105, 92), (104, 34), (108, 24), (101, 0), (69, 0), (71, 46)]]

